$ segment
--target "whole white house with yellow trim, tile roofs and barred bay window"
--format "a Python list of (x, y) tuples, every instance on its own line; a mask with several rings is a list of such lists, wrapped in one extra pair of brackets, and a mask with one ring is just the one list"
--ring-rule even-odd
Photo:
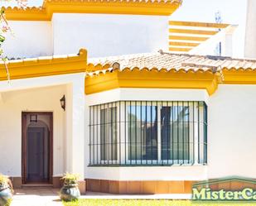
[(169, 22), (180, 6), (7, 8), (15, 35), (0, 67), (0, 172), (15, 187), (59, 187), (71, 172), (82, 192), (190, 194), (197, 181), (256, 178), (256, 60), (194, 54), (219, 27), (225, 40), (232, 29)]

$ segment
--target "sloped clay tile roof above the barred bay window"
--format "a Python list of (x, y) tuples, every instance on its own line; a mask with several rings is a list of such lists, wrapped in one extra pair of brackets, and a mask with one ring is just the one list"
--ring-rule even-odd
[(234, 59), (211, 55), (187, 55), (163, 52), (137, 55), (111, 56), (89, 59), (89, 74), (99, 74), (112, 69), (165, 69), (183, 72), (215, 73), (221, 69), (256, 69), (256, 60)]

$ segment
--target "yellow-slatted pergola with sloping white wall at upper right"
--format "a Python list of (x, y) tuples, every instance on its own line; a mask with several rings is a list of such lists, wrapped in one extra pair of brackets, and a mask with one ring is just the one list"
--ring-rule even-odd
[(169, 51), (187, 52), (191, 55), (232, 56), (236, 27), (222, 23), (170, 21)]

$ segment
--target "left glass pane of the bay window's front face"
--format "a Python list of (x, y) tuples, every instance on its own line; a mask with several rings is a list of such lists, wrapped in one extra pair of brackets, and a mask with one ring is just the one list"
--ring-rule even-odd
[(129, 105), (128, 159), (157, 160), (157, 106)]

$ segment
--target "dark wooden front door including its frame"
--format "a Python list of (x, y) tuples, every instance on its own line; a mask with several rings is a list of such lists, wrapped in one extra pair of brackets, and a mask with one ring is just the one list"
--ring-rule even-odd
[(22, 113), (22, 183), (52, 183), (52, 113)]

